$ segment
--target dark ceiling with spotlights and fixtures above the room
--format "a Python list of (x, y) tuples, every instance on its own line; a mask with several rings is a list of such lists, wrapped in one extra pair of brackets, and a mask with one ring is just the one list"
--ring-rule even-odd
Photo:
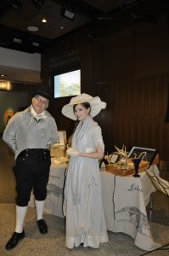
[[(168, 12), (168, 0), (0, 0), (0, 47), (42, 53), (80, 27), (93, 40), (136, 22), (156, 22)], [(61, 15), (66, 9), (74, 20)], [(47, 19), (42, 23), (42, 19)], [(37, 27), (37, 32), (27, 27)]]

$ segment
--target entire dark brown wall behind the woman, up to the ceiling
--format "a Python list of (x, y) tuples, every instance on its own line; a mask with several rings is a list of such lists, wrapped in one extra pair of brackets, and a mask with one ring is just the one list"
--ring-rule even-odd
[[(165, 121), (168, 32), (164, 15), (156, 24), (143, 22), (93, 41), (83, 30), (75, 32), (42, 55), (43, 80), (48, 82), (59, 67), (79, 64), (82, 92), (107, 102), (107, 108), (95, 118), (103, 129), (105, 151), (112, 152), (114, 145), (121, 148), (122, 144), (157, 148), (161, 160), (169, 160), (169, 123)], [(61, 114), (61, 108), (69, 101), (58, 99), (50, 105), (59, 130), (68, 135), (74, 123)]]

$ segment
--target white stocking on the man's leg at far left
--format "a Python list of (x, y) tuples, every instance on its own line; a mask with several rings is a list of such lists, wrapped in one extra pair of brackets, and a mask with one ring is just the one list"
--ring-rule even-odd
[(27, 207), (16, 206), (16, 227), (15, 232), (21, 233), (24, 229), (24, 219), (27, 212)]

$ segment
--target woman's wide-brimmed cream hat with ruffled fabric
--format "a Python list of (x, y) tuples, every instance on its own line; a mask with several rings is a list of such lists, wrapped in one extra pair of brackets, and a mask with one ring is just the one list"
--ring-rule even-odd
[(96, 116), (101, 109), (106, 108), (106, 103), (102, 102), (99, 98), (99, 96), (90, 96), (86, 93), (82, 93), (78, 96), (75, 96), (73, 98), (70, 99), (70, 103), (65, 105), (62, 108), (62, 113), (73, 120), (76, 120), (76, 116), (75, 113), (73, 111), (73, 106), (76, 104), (82, 104), (84, 102), (88, 102), (90, 104), (91, 107), (91, 111), (90, 111), (90, 116), (93, 118), (94, 116)]

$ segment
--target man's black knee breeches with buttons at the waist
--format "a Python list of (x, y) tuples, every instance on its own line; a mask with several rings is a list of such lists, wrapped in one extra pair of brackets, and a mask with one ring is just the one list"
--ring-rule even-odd
[[(32, 189), (37, 201), (43, 201), (47, 196), (46, 186), (48, 184), (51, 164), (50, 154), (47, 151), (44, 157), (42, 151), (44, 149), (41, 149), (41, 152), (36, 152), (36, 149), (33, 152), (31, 150), (26, 151), (28, 157), (25, 157), (22, 151), (22, 154), (19, 154), (19, 157), (16, 159), (14, 166), (17, 191), (16, 203), (20, 207), (28, 205)], [(38, 154), (36, 155), (36, 153)]]

